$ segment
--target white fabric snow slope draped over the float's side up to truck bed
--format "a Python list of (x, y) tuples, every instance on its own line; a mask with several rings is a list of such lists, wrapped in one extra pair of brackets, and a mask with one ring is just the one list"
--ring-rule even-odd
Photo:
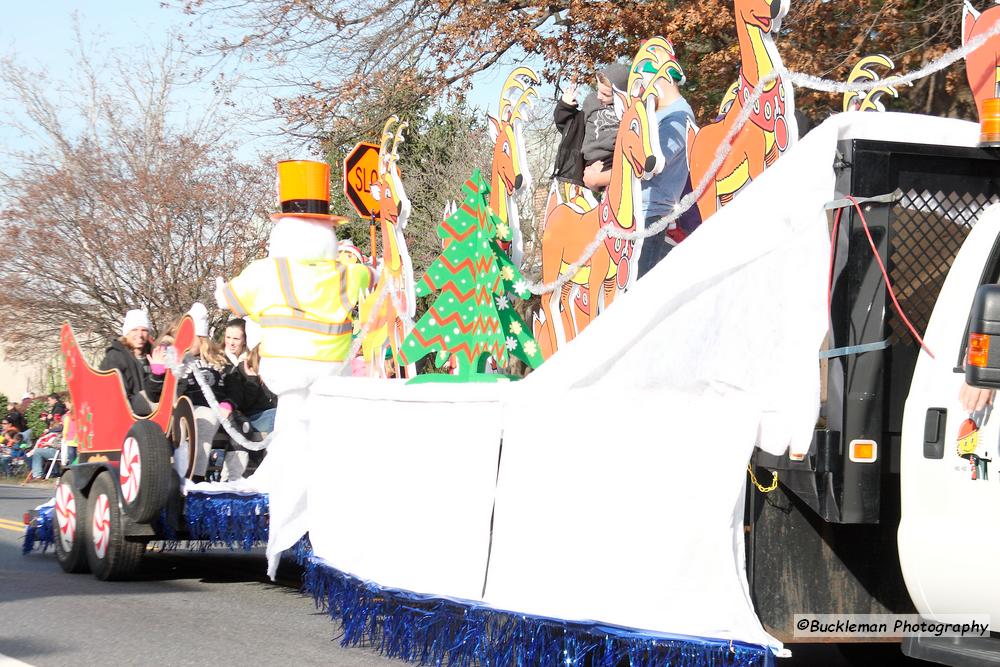
[(309, 458), (271, 493), (305, 477), (316, 555), (383, 586), (779, 649), (746, 585), (745, 471), (812, 436), (837, 140), (977, 135), (832, 117), (527, 379), (318, 383)]

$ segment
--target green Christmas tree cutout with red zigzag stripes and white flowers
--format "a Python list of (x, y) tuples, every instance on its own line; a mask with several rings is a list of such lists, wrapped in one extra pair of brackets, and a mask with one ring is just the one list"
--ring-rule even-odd
[(489, 207), (490, 188), (477, 169), (462, 187), (462, 203), (438, 226), (446, 247), (417, 283), (417, 296), (438, 297), (403, 341), (405, 363), (434, 353), (438, 367), (455, 355), (457, 375), (419, 375), (416, 381), (489, 381), (492, 356), (506, 367), (511, 355), (532, 368), (542, 362), (538, 343), (514, 310), (512, 298), (531, 296), (528, 282), (500, 248), (510, 227)]

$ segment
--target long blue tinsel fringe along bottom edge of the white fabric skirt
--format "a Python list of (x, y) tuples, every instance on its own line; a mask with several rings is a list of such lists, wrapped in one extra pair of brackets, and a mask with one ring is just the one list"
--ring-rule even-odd
[(310, 559), (305, 590), (343, 626), (344, 646), (368, 645), (421, 665), (473, 667), (773, 667), (764, 646), (664, 637), (504, 613), (381, 588)]

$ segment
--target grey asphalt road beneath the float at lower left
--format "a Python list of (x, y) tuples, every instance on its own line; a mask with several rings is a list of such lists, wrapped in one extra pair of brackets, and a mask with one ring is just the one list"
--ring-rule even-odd
[(297, 572), (267, 580), (263, 552), (150, 553), (129, 582), (65, 574), (51, 549), (22, 556), (21, 517), (52, 492), (0, 484), (0, 667), (404, 664), (342, 648)]

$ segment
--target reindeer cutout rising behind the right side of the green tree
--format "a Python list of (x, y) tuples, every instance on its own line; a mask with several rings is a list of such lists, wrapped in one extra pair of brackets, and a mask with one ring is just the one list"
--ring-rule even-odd
[(507, 76), (500, 90), (500, 112), (488, 114), (493, 166), (490, 170), (490, 208), (510, 227), (509, 244), (501, 243), (517, 266), (524, 258), (524, 240), (518, 218), (516, 194), (531, 189), (531, 174), (524, 155), (524, 120), (538, 97), (534, 86), (538, 75), (529, 67), (518, 67)]

